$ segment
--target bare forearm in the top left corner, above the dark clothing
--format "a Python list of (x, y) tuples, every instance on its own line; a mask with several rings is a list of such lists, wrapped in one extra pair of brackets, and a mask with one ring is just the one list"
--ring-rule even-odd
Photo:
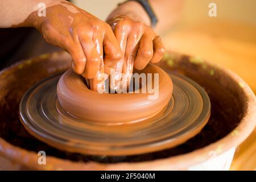
[(38, 7), (39, 3), (45, 3), (46, 7), (52, 6), (59, 0), (18, 0), (18, 1), (0, 1), (0, 27), (17, 27), (26, 26), (32, 27), (33, 22), (24, 23), (28, 16), (33, 12), (36, 12), (40, 9)]

